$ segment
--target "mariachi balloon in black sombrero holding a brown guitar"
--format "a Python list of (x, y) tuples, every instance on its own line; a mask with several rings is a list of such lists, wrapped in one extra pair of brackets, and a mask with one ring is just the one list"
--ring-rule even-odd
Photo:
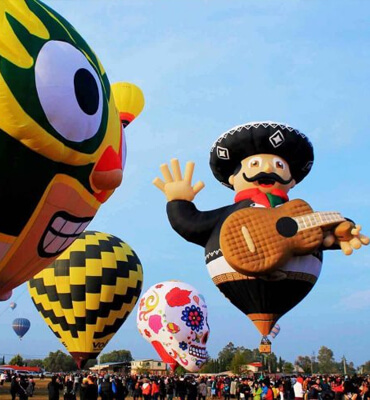
[(351, 254), (369, 243), (360, 226), (339, 213), (315, 213), (303, 200), (288, 201), (313, 160), (311, 142), (297, 129), (250, 122), (225, 132), (211, 148), (212, 172), (236, 192), (234, 204), (197, 210), (192, 200), (204, 184), (192, 186), (194, 163), (182, 176), (173, 159), (172, 173), (163, 164), (164, 181), (153, 182), (166, 195), (172, 227), (205, 248), (213, 282), (263, 336), (315, 285), (322, 250)]

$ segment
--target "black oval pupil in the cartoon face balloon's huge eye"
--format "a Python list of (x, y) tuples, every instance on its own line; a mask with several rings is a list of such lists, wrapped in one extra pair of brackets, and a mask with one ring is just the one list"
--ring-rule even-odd
[(94, 115), (99, 108), (99, 90), (95, 78), (85, 68), (79, 69), (74, 78), (78, 105), (88, 115)]

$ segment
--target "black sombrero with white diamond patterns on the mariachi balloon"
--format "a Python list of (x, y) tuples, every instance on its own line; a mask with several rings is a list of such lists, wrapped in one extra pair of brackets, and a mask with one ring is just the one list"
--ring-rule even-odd
[(232, 188), (230, 175), (244, 158), (255, 154), (274, 154), (286, 160), (297, 183), (310, 172), (314, 160), (312, 144), (303, 133), (279, 122), (260, 121), (223, 133), (211, 148), (209, 164), (213, 175)]

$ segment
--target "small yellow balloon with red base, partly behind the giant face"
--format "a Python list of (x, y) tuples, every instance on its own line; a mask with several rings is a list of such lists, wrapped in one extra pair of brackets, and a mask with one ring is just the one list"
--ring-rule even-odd
[(143, 92), (138, 86), (128, 82), (113, 83), (111, 88), (121, 122), (126, 127), (144, 108)]

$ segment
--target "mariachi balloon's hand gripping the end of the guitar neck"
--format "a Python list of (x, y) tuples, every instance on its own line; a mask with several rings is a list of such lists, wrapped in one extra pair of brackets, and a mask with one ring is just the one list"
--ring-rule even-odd
[(325, 234), (323, 245), (330, 247), (334, 243), (338, 243), (342, 252), (349, 256), (353, 250), (361, 248), (363, 245), (368, 245), (370, 239), (360, 233), (361, 225), (353, 225), (346, 221), (339, 224), (334, 231), (328, 231)]

